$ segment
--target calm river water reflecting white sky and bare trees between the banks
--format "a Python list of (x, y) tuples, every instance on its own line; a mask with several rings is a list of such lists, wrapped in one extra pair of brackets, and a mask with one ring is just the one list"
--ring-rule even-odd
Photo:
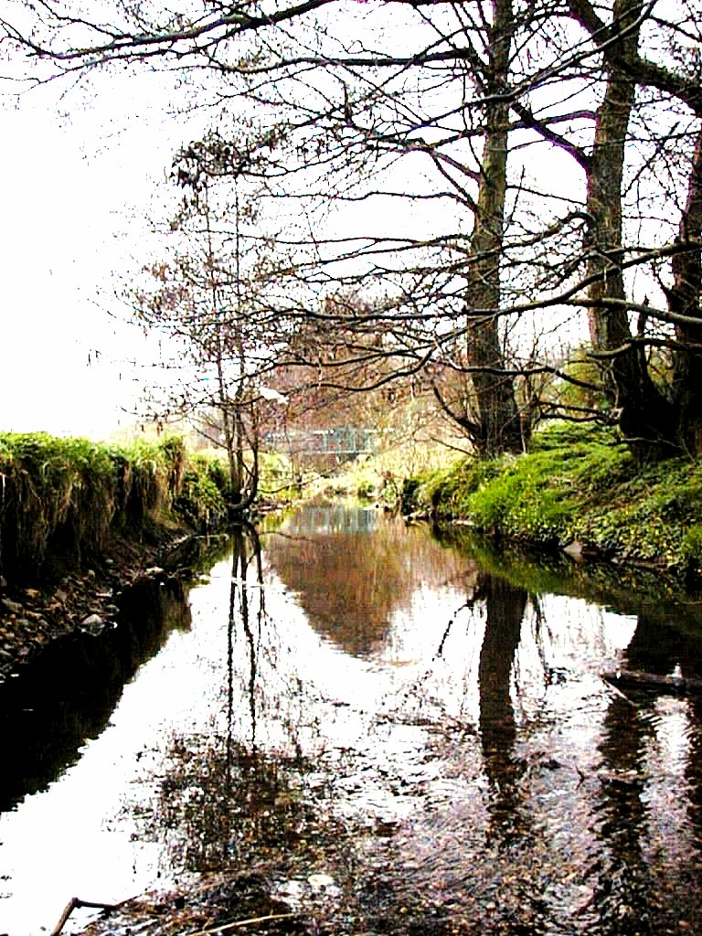
[(702, 703), (624, 666), (702, 678), (702, 607), (373, 508), (242, 534), (0, 696), (0, 934), (223, 869), (309, 931), (702, 933)]

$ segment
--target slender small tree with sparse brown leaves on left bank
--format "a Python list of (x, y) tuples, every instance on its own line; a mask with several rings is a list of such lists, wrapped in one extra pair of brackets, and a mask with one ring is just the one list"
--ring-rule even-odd
[(187, 417), (224, 448), (231, 508), (241, 513), (256, 498), (261, 422), (274, 396), (264, 384), (285, 327), (269, 304), (272, 248), (252, 233), (256, 193), (235, 178), (223, 201), (200, 156), (192, 146), (178, 154), (183, 199), (167, 258), (147, 269), (148, 284), (131, 300), (139, 323), (175, 343), (168, 368), (177, 379), (153, 401), (155, 415)]

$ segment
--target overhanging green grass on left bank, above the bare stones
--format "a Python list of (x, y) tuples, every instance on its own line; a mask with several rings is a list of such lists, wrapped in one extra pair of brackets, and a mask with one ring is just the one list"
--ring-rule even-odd
[(116, 540), (156, 543), (226, 519), (226, 475), (180, 438), (131, 446), (0, 433), (0, 572), (29, 582)]

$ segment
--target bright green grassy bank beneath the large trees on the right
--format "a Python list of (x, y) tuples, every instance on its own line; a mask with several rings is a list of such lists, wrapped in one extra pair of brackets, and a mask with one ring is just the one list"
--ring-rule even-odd
[(598, 429), (554, 426), (529, 455), (463, 459), (410, 478), (402, 509), (550, 548), (578, 542), (680, 575), (702, 568), (702, 462), (636, 469), (626, 446)]

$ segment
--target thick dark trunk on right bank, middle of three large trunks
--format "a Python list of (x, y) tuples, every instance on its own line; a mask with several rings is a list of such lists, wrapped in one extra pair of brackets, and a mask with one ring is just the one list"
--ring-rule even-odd
[[(574, 0), (578, 7), (578, 0)], [(622, 258), (622, 178), (624, 145), (636, 94), (636, 81), (618, 65), (635, 58), (642, 4), (615, 0), (610, 36), (621, 38), (606, 51), (607, 89), (597, 111), (588, 177), (588, 211), (593, 218), (588, 274), (592, 348), (599, 356), (611, 404), (620, 411), (622, 432), (639, 459), (665, 457), (675, 449), (673, 409), (651, 380), (642, 344), (632, 342), (625, 300)], [(606, 37), (602, 37), (603, 39)]]

